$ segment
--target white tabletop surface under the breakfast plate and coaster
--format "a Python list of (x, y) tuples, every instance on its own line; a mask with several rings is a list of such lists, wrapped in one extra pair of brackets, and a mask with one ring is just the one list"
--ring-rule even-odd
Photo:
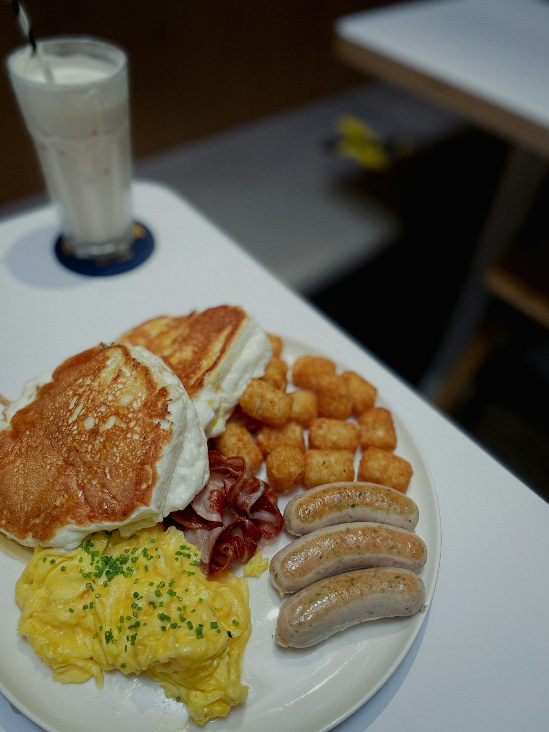
[[(225, 302), (241, 304), (270, 332), (329, 348), (378, 386), (413, 433), (442, 522), (438, 584), (422, 631), (338, 731), (547, 729), (549, 505), (176, 195), (138, 183), (135, 212), (154, 232), (154, 255), (107, 278), (57, 264), (51, 207), (0, 223), (0, 392), (18, 396), (26, 378), (127, 324)], [(37, 729), (0, 698), (0, 732)]]

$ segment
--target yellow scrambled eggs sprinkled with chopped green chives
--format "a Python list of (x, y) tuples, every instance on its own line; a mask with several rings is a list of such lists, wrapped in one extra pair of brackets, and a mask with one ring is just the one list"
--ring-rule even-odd
[(198, 570), (198, 550), (171, 527), (92, 534), (70, 551), (37, 548), (18, 580), (19, 633), (79, 684), (102, 670), (145, 671), (199, 724), (242, 703), (251, 621), (245, 579)]

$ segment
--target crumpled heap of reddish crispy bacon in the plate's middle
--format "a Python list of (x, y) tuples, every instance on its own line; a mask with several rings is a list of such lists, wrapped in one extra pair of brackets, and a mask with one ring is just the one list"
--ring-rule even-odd
[[(225, 458), (209, 450), (210, 478), (198, 496), (171, 521), (187, 529), (185, 536), (202, 552), (208, 576), (251, 559), (261, 539), (272, 539), (283, 527), (283, 516), (269, 485), (251, 474), (243, 458)], [(223, 523), (223, 511), (234, 516)]]

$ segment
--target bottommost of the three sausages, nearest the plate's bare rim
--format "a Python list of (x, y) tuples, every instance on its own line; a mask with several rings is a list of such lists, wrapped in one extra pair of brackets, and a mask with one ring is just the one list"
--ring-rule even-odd
[(424, 602), (423, 581), (408, 569), (343, 572), (288, 597), (278, 613), (275, 640), (307, 648), (367, 620), (414, 615)]

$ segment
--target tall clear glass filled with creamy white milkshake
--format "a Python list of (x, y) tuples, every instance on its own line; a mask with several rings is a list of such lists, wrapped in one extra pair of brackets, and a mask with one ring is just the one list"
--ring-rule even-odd
[(127, 57), (107, 42), (59, 37), (8, 56), (64, 244), (78, 258), (121, 258), (132, 242)]

